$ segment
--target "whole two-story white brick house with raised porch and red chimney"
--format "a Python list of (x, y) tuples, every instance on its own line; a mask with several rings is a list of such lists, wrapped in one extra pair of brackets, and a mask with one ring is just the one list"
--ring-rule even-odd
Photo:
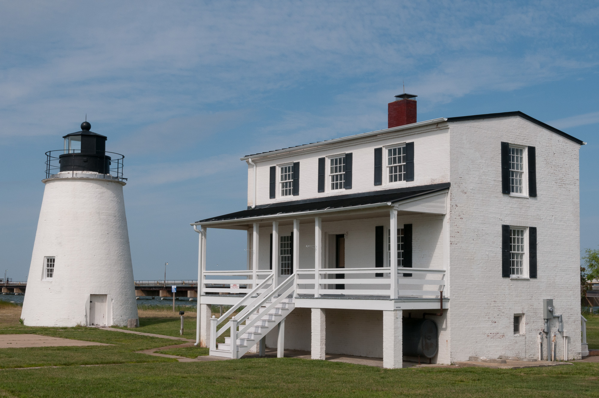
[[(388, 129), (241, 158), (247, 209), (192, 224), (198, 342), (389, 368), (538, 358), (540, 342), (546, 360), (551, 340), (580, 358), (584, 143), (519, 111), (416, 122), (415, 96), (397, 97)], [(247, 231), (246, 270), (206, 270), (208, 228)], [(543, 299), (563, 319), (544, 332)]]

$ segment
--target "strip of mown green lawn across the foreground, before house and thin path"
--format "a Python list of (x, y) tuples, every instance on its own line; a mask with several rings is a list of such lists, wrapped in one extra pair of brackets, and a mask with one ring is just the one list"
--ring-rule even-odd
[(599, 364), (530, 369), (377, 367), (297, 358), (3, 370), (19, 397), (599, 397)]

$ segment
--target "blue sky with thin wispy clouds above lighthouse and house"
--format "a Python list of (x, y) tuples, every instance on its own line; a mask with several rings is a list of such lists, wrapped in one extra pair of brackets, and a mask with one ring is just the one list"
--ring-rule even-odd
[[(196, 278), (189, 222), (244, 209), (247, 153), (521, 110), (588, 142), (581, 246), (599, 245), (597, 2), (0, 1), (0, 269), (26, 278), (44, 152), (87, 113), (124, 153), (137, 279)], [(244, 233), (209, 230), (208, 266)], [(226, 253), (226, 254), (225, 254)]]

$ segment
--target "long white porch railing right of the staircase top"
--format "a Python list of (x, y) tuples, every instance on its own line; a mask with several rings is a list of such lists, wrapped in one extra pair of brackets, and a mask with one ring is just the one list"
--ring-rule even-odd
[[(314, 269), (299, 269), (296, 273), (297, 294), (317, 296), (439, 297), (439, 292), (445, 290), (446, 284), (443, 269), (398, 268), (397, 297), (393, 297), (391, 267), (320, 269), (317, 290), (314, 288)], [(339, 274), (344, 274), (344, 279), (336, 279), (335, 275)]]

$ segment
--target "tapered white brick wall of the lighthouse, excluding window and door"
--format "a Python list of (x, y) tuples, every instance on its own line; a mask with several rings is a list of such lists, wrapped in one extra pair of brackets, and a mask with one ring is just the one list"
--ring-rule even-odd
[[(56, 257), (44, 281), (44, 257)], [(46, 182), (22, 318), (28, 326), (86, 325), (89, 295), (107, 294), (108, 324), (137, 318), (129, 234), (120, 182)]]

